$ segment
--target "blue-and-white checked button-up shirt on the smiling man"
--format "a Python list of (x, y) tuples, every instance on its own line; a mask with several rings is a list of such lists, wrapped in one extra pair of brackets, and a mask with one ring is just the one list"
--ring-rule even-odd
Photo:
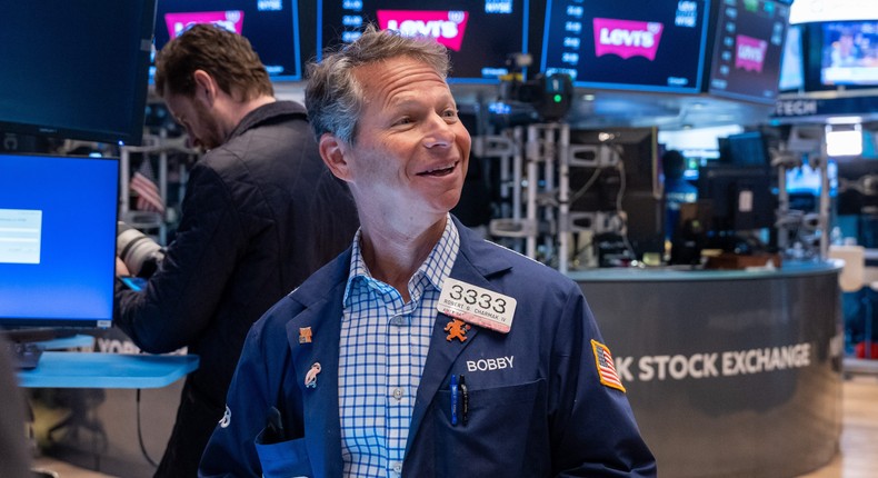
[(451, 218), (409, 279), (408, 303), (376, 280), (353, 239), (339, 349), (341, 458), (346, 477), (398, 478), (442, 283), (460, 238)]

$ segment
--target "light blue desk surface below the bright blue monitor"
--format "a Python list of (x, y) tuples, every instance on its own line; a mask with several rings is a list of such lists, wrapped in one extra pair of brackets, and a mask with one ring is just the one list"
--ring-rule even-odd
[(158, 388), (198, 368), (198, 356), (46, 351), (32, 370), (20, 370), (21, 387)]

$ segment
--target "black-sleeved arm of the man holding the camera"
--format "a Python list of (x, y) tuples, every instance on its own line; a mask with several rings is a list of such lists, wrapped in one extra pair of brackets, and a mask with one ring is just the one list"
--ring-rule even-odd
[(117, 287), (116, 325), (141, 349), (163, 353), (187, 346), (207, 327), (245, 246), (231, 193), (197, 165), (182, 220), (143, 292)]

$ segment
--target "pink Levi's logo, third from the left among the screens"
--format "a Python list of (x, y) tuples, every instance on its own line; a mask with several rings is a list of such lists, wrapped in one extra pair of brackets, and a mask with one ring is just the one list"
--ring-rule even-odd
[(656, 59), (656, 51), (661, 40), (661, 23), (655, 21), (615, 20), (596, 18), (595, 54), (618, 54), (627, 59), (636, 56), (649, 61)]

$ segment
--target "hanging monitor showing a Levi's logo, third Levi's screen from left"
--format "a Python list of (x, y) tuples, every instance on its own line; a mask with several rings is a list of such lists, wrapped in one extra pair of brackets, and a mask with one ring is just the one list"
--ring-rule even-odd
[(701, 90), (709, 2), (549, 0), (541, 71), (586, 88)]

